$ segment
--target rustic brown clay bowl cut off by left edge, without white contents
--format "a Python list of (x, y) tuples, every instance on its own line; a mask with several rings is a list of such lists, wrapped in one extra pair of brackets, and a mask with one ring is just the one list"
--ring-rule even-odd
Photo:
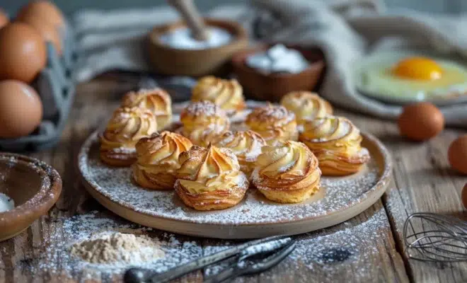
[(13, 198), (16, 206), (0, 212), (0, 241), (4, 241), (49, 211), (62, 192), (62, 179), (54, 168), (35, 158), (1, 153), (0, 192)]

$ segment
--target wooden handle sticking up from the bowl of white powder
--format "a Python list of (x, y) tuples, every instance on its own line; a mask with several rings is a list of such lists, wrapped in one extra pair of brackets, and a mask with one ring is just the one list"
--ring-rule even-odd
[(171, 4), (180, 13), (188, 27), (192, 30), (193, 37), (196, 40), (204, 41), (209, 38), (206, 25), (204, 25), (204, 21), (200, 16), (200, 12), (197, 11), (193, 0), (168, 0), (168, 4)]

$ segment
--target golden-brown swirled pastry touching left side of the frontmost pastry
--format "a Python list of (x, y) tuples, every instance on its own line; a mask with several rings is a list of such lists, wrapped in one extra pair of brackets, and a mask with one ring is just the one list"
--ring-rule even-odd
[(136, 144), (138, 159), (132, 166), (134, 180), (148, 189), (172, 190), (180, 168), (178, 157), (191, 146), (186, 137), (166, 131), (140, 139)]

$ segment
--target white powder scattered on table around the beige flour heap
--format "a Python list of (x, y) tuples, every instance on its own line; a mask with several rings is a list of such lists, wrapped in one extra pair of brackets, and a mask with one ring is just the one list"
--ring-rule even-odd
[[(102, 218), (101, 218), (102, 217)], [(183, 236), (171, 233), (159, 233), (151, 228), (145, 228), (137, 224), (132, 224), (122, 219), (115, 219), (110, 214), (98, 216), (98, 212), (91, 212), (72, 217), (59, 217), (53, 226), (62, 226), (62, 233), (54, 231), (48, 236), (48, 241), (54, 245), (47, 246), (45, 253), (41, 255), (38, 265), (33, 267), (33, 272), (45, 271), (54, 273), (67, 272), (77, 274), (83, 272), (86, 277), (99, 278), (102, 275), (122, 274), (129, 267), (144, 267), (154, 270), (154, 272), (165, 272), (175, 266), (194, 260), (202, 255), (202, 248), (195, 241), (185, 241)], [(55, 229), (53, 229), (55, 230)], [(134, 234), (144, 237), (147, 241), (154, 241), (154, 245), (160, 248), (162, 257), (142, 257), (139, 260), (133, 257), (129, 260), (117, 260), (115, 262), (93, 263), (81, 260), (76, 255), (70, 253), (72, 246), (76, 243), (96, 238), (96, 235), (115, 235), (115, 233)], [(139, 253), (150, 255), (155, 253), (149, 248), (142, 247)], [(161, 255), (161, 254), (159, 254)], [(37, 268), (38, 270), (34, 270)], [(96, 276), (97, 275), (97, 276)]]

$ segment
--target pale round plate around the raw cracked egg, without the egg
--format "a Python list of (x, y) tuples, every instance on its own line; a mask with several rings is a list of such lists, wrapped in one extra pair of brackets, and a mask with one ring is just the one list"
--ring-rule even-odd
[[(415, 90), (408, 91), (407, 89), (393, 83), (391, 78), (386, 79), (386, 86), (369, 86), (365, 83), (365, 81), (370, 78), (364, 76), (364, 71), (371, 70), (372, 72), (378, 72), (381, 71), (381, 66), (391, 66), (400, 61), (400, 59), (406, 57), (420, 56), (434, 58), (435, 60), (441, 60), (442, 62), (450, 62), (450, 64), (456, 64), (458, 67), (465, 66), (466, 64), (462, 59), (446, 57), (425, 50), (380, 51), (365, 57), (357, 63), (353, 74), (355, 86), (364, 96), (380, 100), (384, 103), (396, 105), (406, 105), (426, 101), (433, 103), (434, 105), (443, 106), (467, 102), (467, 82), (452, 87), (431, 89), (426, 91), (426, 93), (417, 92)], [(400, 88), (400, 91), (393, 92), (392, 94), (385, 93), (380, 90), (385, 89), (384, 87), (388, 88), (390, 91)]]

